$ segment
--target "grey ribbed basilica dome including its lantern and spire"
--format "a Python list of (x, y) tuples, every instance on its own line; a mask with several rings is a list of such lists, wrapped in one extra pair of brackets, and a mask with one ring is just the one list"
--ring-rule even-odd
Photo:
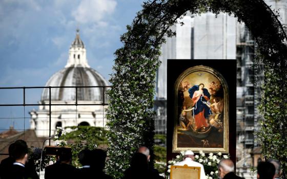
[[(79, 37), (76, 38), (69, 50), (69, 59), (64, 69), (56, 72), (45, 86), (107, 86), (107, 81), (94, 69), (90, 68), (86, 49)], [(49, 100), (49, 88), (44, 88), (41, 101)], [(75, 87), (51, 88), (51, 100), (76, 100)], [(103, 100), (103, 87), (78, 87), (77, 100), (97, 101)]]

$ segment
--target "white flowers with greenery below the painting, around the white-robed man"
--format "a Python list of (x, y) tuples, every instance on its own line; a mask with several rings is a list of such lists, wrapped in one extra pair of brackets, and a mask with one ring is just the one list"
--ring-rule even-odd
[[(170, 173), (171, 165), (176, 164), (177, 162), (183, 161), (183, 155), (185, 154), (185, 151), (180, 151), (179, 155), (176, 155), (176, 157), (170, 161), (168, 161), (167, 166), (167, 172)], [(218, 178), (218, 170), (217, 165), (220, 162), (221, 159), (229, 159), (229, 154), (222, 155), (221, 152), (216, 153), (204, 153), (203, 151), (199, 151), (199, 154), (195, 155), (194, 161), (199, 162), (203, 165), (204, 171), (206, 174), (207, 179), (217, 179)]]

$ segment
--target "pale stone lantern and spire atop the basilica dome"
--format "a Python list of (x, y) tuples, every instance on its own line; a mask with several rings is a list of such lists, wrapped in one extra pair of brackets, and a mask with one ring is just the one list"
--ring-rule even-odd
[(76, 37), (71, 44), (69, 50), (69, 59), (67, 61), (65, 68), (68, 68), (70, 66), (82, 66), (90, 68), (87, 61), (85, 45), (84, 42), (80, 39), (79, 31), (80, 30), (77, 28)]

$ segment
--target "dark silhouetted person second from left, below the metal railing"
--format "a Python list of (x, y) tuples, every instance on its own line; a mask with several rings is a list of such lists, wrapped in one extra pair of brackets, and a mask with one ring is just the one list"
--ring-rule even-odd
[(77, 169), (70, 165), (72, 160), (71, 149), (61, 147), (58, 150), (59, 162), (46, 167), (45, 179), (78, 178)]

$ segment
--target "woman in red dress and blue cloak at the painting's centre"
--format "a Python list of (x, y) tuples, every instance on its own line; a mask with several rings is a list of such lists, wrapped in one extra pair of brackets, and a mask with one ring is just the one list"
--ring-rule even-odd
[(192, 86), (188, 92), (193, 101), (192, 111), (193, 119), (195, 120), (195, 130), (204, 131), (209, 127), (206, 119), (211, 115), (210, 108), (204, 103), (210, 100), (211, 95), (208, 89), (204, 88), (203, 83)]

